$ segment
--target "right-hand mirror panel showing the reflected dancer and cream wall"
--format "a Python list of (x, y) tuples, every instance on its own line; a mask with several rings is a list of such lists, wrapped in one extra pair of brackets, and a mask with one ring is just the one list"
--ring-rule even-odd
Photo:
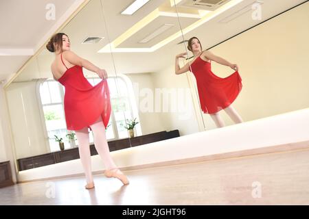
[[(223, 94), (219, 89), (236, 91), (239, 83), (237, 79), (225, 81), (225, 78), (235, 76), (236, 70), (194, 56), (187, 49), (187, 40), (192, 37), (198, 38), (203, 51), (238, 64), (242, 90), (231, 105), (244, 122), (309, 107), (308, 2), (218, 0), (193, 3), (179, 0), (175, 3), (179, 14), (187, 10), (196, 14), (196, 21), (191, 25), (179, 16), (185, 41), (180, 53), (187, 53), (181, 62), (183, 65), (190, 63), (193, 72), (186, 73), (186, 77), (192, 88), (197, 120), (204, 130), (218, 126), (202, 109), (203, 101), (213, 103)], [(211, 68), (215, 76), (211, 73), (201, 75), (207, 73), (207, 68)], [(186, 80), (185, 76), (178, 76)], [(210, 83), (209, 78), (218, 83)], [(202, 87), (200, 90), (198, 83)], [(226, 84), (221, 87), (220, 83)], [(225, 110), (218, 114), (225, 126), (235, 124)]]

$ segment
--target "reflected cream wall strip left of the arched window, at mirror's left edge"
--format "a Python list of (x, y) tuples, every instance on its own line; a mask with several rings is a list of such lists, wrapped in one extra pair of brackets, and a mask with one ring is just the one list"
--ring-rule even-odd
[(16, 159), (48, 153), (38, 108), (36, 82), (12, 83), (6, 89), (6, 94)]

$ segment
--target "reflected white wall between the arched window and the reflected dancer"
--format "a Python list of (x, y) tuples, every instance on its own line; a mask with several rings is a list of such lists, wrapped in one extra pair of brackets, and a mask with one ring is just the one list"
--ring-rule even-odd
[[(158, 73), (126, 75), (133, 83), (139, 84), (140, 94), (145, 94), (143, 92), (145, 88), (151, 90), (152, 112), (141, 112), (142, 101), (147, 96), (144, 95), (139, 98), (139, 116), (143, 134), (178, 129), (179, 134), (182, 136), (198, 131), (198, 123), (192, 107), (192, 96), (187, 78), (185, 75), (175, 75), (174, 65), (170, 65)], [(172, 94), (172, 92), (175, 93)], [(167, 112), (163, 111), (163, 104), (167, 107)], [(172, 112), (172, 104), (176, 106), (174, 112)]]

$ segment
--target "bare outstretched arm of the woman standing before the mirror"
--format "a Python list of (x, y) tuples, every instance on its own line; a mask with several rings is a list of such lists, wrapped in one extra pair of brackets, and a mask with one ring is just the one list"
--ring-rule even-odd
[(75, 65), (87, 68), (88, 70), (91, 70), (92, 72), (97, 73), (99, 75), (99, 77), (102, 78), (102, 79), (107, 78), (106, 70), (95, 66), (94, 64), (92, 64), (88, 60), (84, 60), (82, 57), (79, 57), (78, 55), (76, 55), (72, 51), (64, 51), (62, 54), (63, 54), (62, 57), (65, 57), (65, 59), (67, 61), (69, 61), (71, 64), (75, 64)]

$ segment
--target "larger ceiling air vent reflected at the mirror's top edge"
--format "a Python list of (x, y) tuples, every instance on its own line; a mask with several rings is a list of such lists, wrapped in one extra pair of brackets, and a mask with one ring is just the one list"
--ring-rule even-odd
[(214, 11), (231, 0), (183, 0), (179, 6)]

